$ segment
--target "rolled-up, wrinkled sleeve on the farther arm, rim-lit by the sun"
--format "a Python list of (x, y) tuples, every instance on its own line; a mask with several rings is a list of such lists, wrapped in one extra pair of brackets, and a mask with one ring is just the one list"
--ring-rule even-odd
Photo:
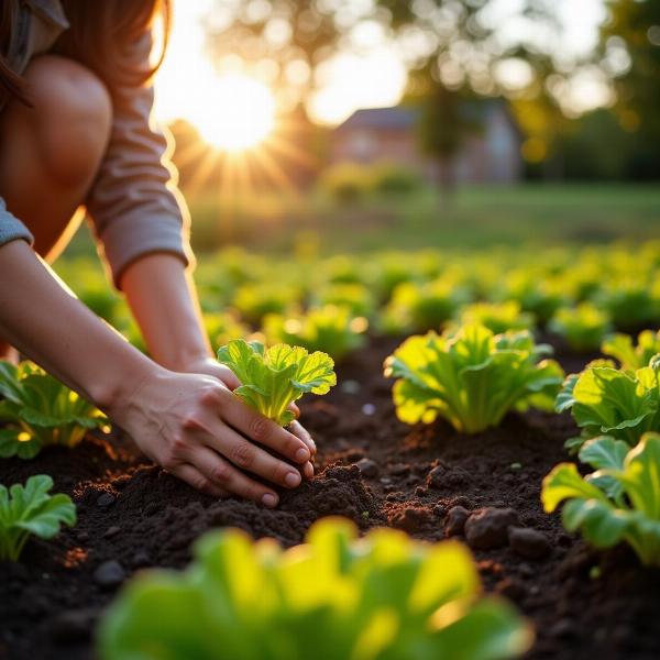
[[(127, 54), (136, 68), (148, 66), (151, 34)], [(152, 119), (151, 86), (114, 85), (108, 150), (87, 199), (87, 211), (100, 243), (99, 252), (119, 287), (123, 271), (140, 257), (166, 252), (186, 265), (194, 257), (189, 246), (189, 213), (176, 188), (169, 163), (169, 145)]]

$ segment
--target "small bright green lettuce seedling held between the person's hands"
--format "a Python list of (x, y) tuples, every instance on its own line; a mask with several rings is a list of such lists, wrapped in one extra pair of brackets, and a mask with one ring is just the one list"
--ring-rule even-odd
[(238, 339), (220, 348), (218, 361), (241, 381), (234, 394), (282, 426), (295, 419), (289, 404), (307, 392), (327, 394), (337, 384), (332, 359), (320, 351), (310, 354), (301, 346), (265, 349), (258, 341)]

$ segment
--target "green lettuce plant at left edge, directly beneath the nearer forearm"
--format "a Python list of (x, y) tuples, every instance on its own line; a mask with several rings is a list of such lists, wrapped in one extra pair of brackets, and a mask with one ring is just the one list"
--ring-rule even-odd
[(32, 362), (0, 362), (0, 457), (34, 458), (46, 444), (74, 447), (108, 424), (92, 404)]

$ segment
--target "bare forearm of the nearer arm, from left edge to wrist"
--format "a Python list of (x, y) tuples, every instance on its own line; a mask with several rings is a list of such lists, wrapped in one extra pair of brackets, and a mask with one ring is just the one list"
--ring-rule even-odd
[(23, 241), (0, 248), (0, 336), (108, 410), (155, 365), (65, 290)]

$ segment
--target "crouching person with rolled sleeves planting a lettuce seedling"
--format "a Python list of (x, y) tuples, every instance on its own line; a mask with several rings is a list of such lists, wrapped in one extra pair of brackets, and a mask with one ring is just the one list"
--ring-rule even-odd
[[(316, 447), (299, 422), (244, 405), (212, 359), (187, 211), (151, 120), (160, 19), (167, 34), (166, 0), (0, 2), (0, 352), (41, 364), (191, 486), (274, 507), (276, 486), (311, 476)], [(85, 212), (153, 359), (47, 266)]]

